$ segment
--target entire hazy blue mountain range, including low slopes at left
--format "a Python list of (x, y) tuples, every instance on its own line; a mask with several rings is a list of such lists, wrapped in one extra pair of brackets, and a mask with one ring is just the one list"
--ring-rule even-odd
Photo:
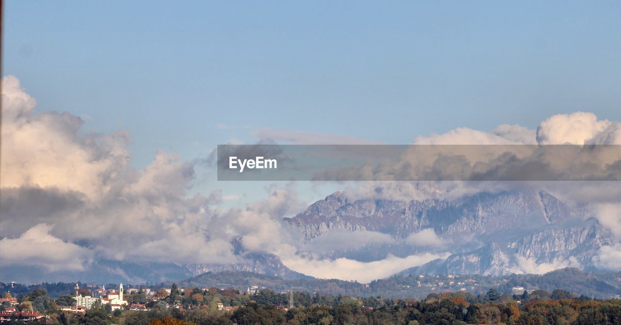
[[(402, 270), (401, 275), (498, 276), (545, 273), (563, 267), (598, 271), (592, 257), (602, 245), (615, 244), (611, 232), (586, 209), (563, 203), (545, 191), (531, 190), (411, 201), (352, 200), (346, 193), (336, 192), (296, 216), (284, 218), (283, 224), (299, 237), (301, 252), (312, 253), (315, 258), (346, 257), (370, 262), (427, 252), (446, 256)], [(350, 236), (345, 236), (348, 243), (335, 241), (343, 235)], [(352, 238), (359, 238), (360, 242)], [(158, 283), (222, 271), (284, 279), (310, 278), (290, 270), (276, 255), (247, 252), (240, 239), (233, 240), (232, 245), (238, 261), (229, 264), (96, 260), (88, 270), (79, 272), (50, 273), (12, 267), (0, 267), (0, 271), (25, 283)]]

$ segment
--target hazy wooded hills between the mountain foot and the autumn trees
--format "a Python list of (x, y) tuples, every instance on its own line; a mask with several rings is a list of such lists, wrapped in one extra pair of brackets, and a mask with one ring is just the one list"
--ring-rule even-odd
[[(471, 280), (473, 282), (466, 282)], [(419, 286), (420, 282), (420, 286)], [(443, 285), (439, 283), (442, 282)], [(452, 284), (451, 284), (452, 282)], [(466, 282), (466, 283), (465, 283)], [(251, 272), (207, 272), (196, 277), (178, 282), (186, 288), (236, 288), (245, 291), (249, 286), (258, 285), (276, 291), (308, 291), (320, 292), (324, 295), (350, 296), (386, 296), (393, 298), (424, 298), (429, 293), (438, 291), (458, 291), (461, 288), (478, 295), (485, 293), (487, 288), (496, 288), (501, 293), (511, 293), (513, 286), (524, 286), (527, 290), (543, 289), (553, 291), (561, 288), (581, 295), (594, 298), (614, 298), (621, 295), (621, 272), (587, 273), (577, 268), (564, 268), (544, 275), (505, 275), (491, 277), (485, 275), (456, 275), (448, 278), (446, 275), (418, 274), (395, 275), (393, 277), (374, 280), (369, 285), (359, 282), (336, 279), (297, 278), (283, 279), (269, 275)], [(461, 284), (460, 284), (461, 283)], [(157, 290), (162, 287), (170, 288), (172, 283), (144, 286)], [(117, 286), (109, 284), (107, 287)], [(20, 285), (0, 283), (0, 294), (11, 291), (14, 295), (26, 294), (35, 288), (45, 289), (48, 295), (56, 298), (73, 293), (75, 283), (42, 283), (39, 285)], [(79, 283), (80, 288), (85, 285)], [(129, 285), (127, 286), (129, 288)]]

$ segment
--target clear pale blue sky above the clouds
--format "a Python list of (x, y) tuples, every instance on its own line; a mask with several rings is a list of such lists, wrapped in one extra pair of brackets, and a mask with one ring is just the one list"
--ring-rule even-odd
[(3, 74), (39, 111), (128, 130), (139, 168), (265, 127), (408, 144), (578, 110), (621, 120), (620, 7), (7, 1)]

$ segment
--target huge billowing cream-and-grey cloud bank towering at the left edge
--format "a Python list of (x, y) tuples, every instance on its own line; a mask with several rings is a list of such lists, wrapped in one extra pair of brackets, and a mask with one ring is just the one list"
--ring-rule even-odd
[[(235, 261), (232, 235), (217, 228), (218, 193), (187, 196), (193, 163), (160, 151), (135, 170), (127, 132), (84, 134), (79, 117), (35, 113), (35, 104), (17, 78), (3, 78), (0, 237), (11, 247), (1, 250), (4, 259), (32, 255), (14, 240), (37, 233), (54, 243), (50, 256), (61, 262), (65, 250), (132, 262)], [(22, 237), (7, 237), (16, 233)]]

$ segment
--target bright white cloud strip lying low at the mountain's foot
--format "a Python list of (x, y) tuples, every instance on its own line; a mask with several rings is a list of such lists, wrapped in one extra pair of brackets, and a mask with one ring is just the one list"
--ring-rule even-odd
[(283, 259), (283, 263), (294, 271), (304, 272), (317, 278), (338, 278), (366, 283), (378, 278), (389, 277), (406, 268), (423, 265), (435, 259), (446, 259), (448, 255), (425, 253), (403, 258), (391, 255), (386, 259), (373, 262), (360, 262), (345, 258), (312, 260), (291, 257)]

